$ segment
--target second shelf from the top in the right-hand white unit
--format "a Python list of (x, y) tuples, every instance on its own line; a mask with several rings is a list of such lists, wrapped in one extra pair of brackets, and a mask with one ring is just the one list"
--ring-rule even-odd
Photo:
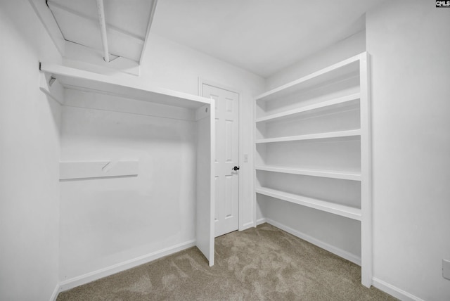
[(310, 111), (319, 112), (323, 110), (333, 110), (339, 109), (338, 105), (349, 105), (352, 103), (359, 103), (359, 93), (355, 93), (348, 96), (343, 96), (340, 98), (335, 98), (330, 101), (322, 101), (321, 103), (314, 103), (312, 105), (305, 105), (304, 107), (295, 108), (292, 110), (285, 110), (280, 113), (275, 113), (271, 115), (266, 115), (264, 117), (259, 117), (255, 120), (255, 122), (267, 122), (267, 121), (273, 121), (278, 120), (283, 117), (292, 117), (293, 115), (300, 114), (300, 113), (307, 113)]

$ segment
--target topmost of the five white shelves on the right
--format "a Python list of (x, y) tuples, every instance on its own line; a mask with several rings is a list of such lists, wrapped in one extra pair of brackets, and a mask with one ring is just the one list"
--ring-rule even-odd
[(320, 86), (333, 80), (339, 80), (349, 77), (359, 77), (359, 60), (361, 55), (342, 60), (339, 63), (330, 65), (310, 75), (301, 77), (293, 82), (284, 84), (281, 87), (267, 91), (257, 96), (257, 101), (271, 101), (277, 98), (293, 94), (311, 87)]

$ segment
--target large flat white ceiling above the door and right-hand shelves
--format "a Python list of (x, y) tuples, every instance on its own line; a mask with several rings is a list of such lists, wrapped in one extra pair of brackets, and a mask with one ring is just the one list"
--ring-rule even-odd
[(364, 30), (383, 0), (160, 0), (151, 31), (262, 77)]

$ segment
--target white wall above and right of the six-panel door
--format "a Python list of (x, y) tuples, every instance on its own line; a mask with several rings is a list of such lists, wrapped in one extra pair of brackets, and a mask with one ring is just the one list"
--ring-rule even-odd
[[(64, 60), (71, 67), (86, 68), (73, 60)], [(94, 68), (95, 70), (95, 68)], [(104, 72), (98, 68), (97, 72)], [(240, 214), (240, 227), (253, 224), (252, 203), (252, 120), (253, 96), (262, 93), (265, 80), (246, 70), (225, 63), (205, 53), (176, 44), (158, 35), (150, 34), (146, 53), (143, 56), (141, 75), (131, 77), (110, 70), (109, 75), (134, 78), (136, 82), (148, 83), (167, 89), (198, 95), (199, 77), (205, 81), (233, 89), (240, 94), (240, 201), (243, 212)], [(248, 154), (248, 163), (243, 163), (243, 154)]]

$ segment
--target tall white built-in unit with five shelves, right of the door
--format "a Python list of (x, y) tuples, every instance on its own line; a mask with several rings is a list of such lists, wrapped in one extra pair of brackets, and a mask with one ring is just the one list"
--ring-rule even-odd
[(355, 240), (361, 241), (361, 282), (370, 287), (367, 68), (367, 53), (361, 53), (257, 96), (255, 202), (275, 198), (360, 222), (361, 237)]

